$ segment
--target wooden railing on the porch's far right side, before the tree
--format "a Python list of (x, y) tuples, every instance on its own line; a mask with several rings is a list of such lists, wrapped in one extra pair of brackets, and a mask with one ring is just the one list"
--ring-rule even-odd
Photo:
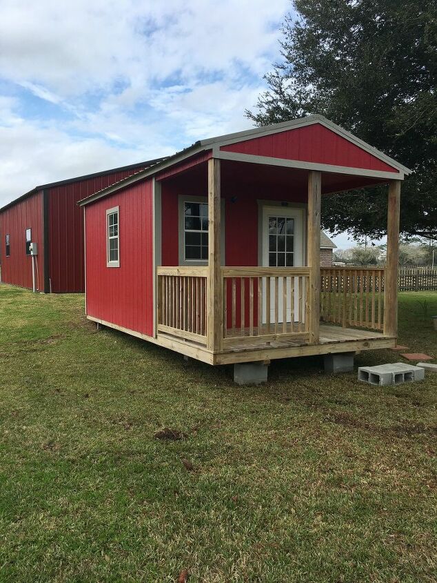
[(322, 268), (321, 320), (383, 330), (384, 275), (384, 268)]

